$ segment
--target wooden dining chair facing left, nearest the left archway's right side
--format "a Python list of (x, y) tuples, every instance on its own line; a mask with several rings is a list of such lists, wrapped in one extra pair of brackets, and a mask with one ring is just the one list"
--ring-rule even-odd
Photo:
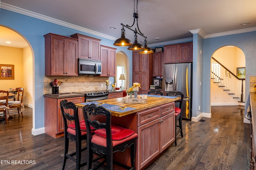
[(24, 89), (21, 87), (18, 89), (18, 98), (17, 101), (9, 101), (9, 116), (11, 115), (19, 115), (23, 117), (22, 111), (24, 110), (24, 104), (23, 104), (23, 95), (24, 95)]

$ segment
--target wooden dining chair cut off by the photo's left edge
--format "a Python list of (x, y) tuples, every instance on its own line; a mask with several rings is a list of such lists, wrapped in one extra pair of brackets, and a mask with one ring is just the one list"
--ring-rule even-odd
[[(4, 96), (4, 97), (1, 97)], [(8, 123), (8, 97), (9, 91), (0, 90), (0, 115), (4, 114), (0, 119), (5, 119), (5, 122)]]

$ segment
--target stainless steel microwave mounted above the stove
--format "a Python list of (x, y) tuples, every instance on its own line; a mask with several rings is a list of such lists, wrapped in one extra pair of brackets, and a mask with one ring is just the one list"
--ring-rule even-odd
[(78, 74), (101, 74), (101, 61), (78, 58)]

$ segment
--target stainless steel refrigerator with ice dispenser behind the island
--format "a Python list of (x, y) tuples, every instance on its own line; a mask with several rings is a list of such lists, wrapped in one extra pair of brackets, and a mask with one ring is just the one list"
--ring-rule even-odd
[[(182, 118), (192, 117), (192, 63), (164, 64), (163, 86), (165, 94), (168, 91), (181, 91), (184, 94), (182, 102)], [(178, 103), (176, 105), (178, 107)]]

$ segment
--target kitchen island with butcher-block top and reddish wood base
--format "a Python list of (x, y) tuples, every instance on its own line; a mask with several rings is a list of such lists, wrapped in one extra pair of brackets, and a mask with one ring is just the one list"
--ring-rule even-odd
[[(180, 97), (149, 97), (146, 103), (125, 103), (123, 97), (98, 101), (130, 111), (111, 111), (113, 125), (134, 130), (138, 134), (136, 169), (144, 169), (175, 140), (175, 103)], [(82, 108), (87, 103), (76, 104)], [(104, 107), (104, 105), (102, 105)], [(107, 107), (106, 107), (107, 108)], [(117, 107), (118, 108), (118, 107)], [(93, 118), (92, 118), (93, 119)], [(103, 120), (99, 120), (103, 121)], [(114, 153), (114, 160), (130, 166), (130, 148)], [(118, 167), (120, 168), (120, 167)]]

